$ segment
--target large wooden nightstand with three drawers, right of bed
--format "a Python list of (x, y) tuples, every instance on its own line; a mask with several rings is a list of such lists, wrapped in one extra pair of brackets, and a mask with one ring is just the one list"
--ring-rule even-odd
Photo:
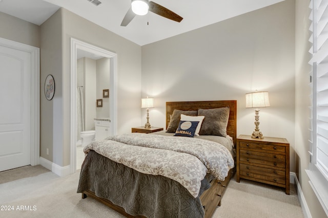
[(289, 142), (285, 138), (237, 137), (237, 182), (240, 178), (285, 188), (290, 194)]

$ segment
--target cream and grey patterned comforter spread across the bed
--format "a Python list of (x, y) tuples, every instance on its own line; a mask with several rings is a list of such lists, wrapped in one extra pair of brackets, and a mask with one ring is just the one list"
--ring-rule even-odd
[(93, 142), (84, 150), (94, 150), (141, 173), (168, 177), (194, 197), (207, 172), (224, 180), (234, 166), (227, 148), (198, 138), (130, 133)]

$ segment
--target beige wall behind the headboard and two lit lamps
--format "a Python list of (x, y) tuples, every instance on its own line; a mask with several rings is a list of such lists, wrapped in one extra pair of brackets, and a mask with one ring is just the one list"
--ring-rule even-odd
[[(264, 136), (285, 137), (295, 172), (295, 3), (284, 1), (142, 46), (142, 97), (154, 97), (150, 123), (165, 127), (165, 102), (237, 100), (237, 135), (254, 131), (245, 93), (269, 91)], [(145, 121), (142, 110), (142, 121)]]

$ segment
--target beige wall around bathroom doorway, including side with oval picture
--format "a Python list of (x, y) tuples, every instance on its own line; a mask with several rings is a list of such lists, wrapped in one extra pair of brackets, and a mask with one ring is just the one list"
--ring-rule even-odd
[[(117, 54), (117, 133), (140, 125), (141, 47), (66, 10), (59, 9), (41, 26), (41, 79), (52, 72), (56, 91), (41, 102), (41, 156), (59, 165), (70, 164), (70, 40), (71, 37)], [(47, 69), (43, 71), (43, 69)], [(49, 118), (50, 117), (50, 118)], [(53, 120), (52, 120), (53, 119)]]

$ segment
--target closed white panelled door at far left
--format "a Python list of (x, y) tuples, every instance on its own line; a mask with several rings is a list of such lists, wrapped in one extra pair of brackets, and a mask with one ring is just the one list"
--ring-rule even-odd
[(0, 171), (31, 164), (31, 53), (0, 45)]

